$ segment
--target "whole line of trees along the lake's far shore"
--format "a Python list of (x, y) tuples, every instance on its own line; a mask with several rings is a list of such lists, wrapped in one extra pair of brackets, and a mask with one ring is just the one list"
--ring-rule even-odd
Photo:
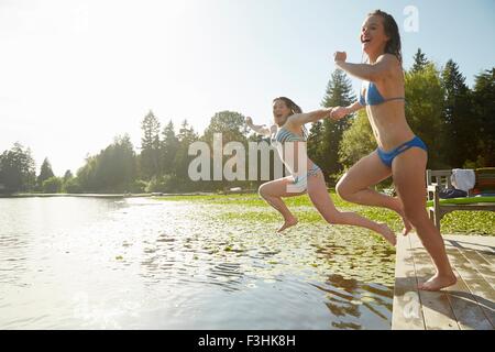
[[(405, 90), (406, 117), (413, 131), (428, 145), (429, 168), (495, 165), (495, 67), (476, 75), (471, 89), (455, 62), (449, 59), (439, 68), (418, 50), (413, 67), (405, 70)], [(348, 106), (355, 99), (350, 79), (336, 69), (321, 106)], [(188, 177), (189, 163), (195, 158), (188, 150), (196, 141), (212, 147), (215, 133), (222, 133), (222, 145), (237, 141), (246, 150), (249, 142), (263, 141), (245, 128), (245, 117), (240, 112), (217, 112), (202, 135), (187, 120), (178, 132), (172, 120), (162, 128), (153, 111), (144, 117), (141, 129), (139, 152), (128, 134), (116, 136), (105, 150), (88, 156), (76, 175), (67, 170), (63, 177), (54, 175), (48, 158), (37, 174), (31, 150), (15, 143), (0, 155), (0, 193), (216, 191), (229, 187), (256, 188), (262, 183), (193, 182)], [(330, 186), (376, 148), (363, 109), (337, 122), (316, 122), (309, 132), (308, 154), (321, 167)], [(228, 158), (223, 156), (223, 161)], [(257, 163), (260, 174), (260, 158)], [(273, 166), (270, 174), (273, 177)]]

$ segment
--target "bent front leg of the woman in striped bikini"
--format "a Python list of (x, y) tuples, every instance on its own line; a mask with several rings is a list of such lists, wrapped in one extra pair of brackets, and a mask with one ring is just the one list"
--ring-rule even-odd
[(306, 191), (288, 193), (287, 186), (292, 184), (294, 184), (293, 176), (287, 176), (263, 184), (258, 189), (260, 196), (266, 200), (267, 204), (278, 210), (278, 212), (280, 212), (284, 217), (284, 224), (277, 230), (277, 232), (282, 232), (297, 223), (296, 217), (294, 217), (290, 210), (288, 210), (287, 206), (282, 200), (282, 197), (300, 196)]

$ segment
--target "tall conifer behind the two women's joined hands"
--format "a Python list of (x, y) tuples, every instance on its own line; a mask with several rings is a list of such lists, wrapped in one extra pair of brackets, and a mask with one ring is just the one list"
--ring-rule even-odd
[[(356, 98), (346, 74), (341, 69), (336, 69), (327, 85), (326, 96), (321, 105), (326, 108), (345, 107), (355, 100)], [(342, 165), (339, 163), (339, 144), (342, 140), (342, 133), (349, 128), (349, 124), (348, 118), (337, 122), (330, 119), (323, 120), (321, 148), (319, 153), (316, 153), (317, 160), (315, 162), (333, 183), (342, 170)], [(318, 128), (315, 128), (312, 131), (314, 133), (319, 132)], [(312, 136), (312, 140), (318, 139), (317, 135)], [(311, 151), (311, 153), (315, 153), (315, 151)]]

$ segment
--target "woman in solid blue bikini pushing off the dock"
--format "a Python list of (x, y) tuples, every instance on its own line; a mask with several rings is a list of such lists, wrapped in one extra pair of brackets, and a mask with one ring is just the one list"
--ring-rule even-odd
[[(366, 64), (350, 64), (345, 53), (334, 54), (338, 67), (366, 82), (359, 101), (334, 108), (331, 117), (338, 120), (365, 108), (378, 148), (342, 176), (337, 191), (348, 201), (396, 211), (404, 220), (404, 234), (414, 227), (437, 268), (437, 274), (419, 288), (439, 290), (457, 279), (440, 232), (426, 211), (427, 147), (406, 121), (400, 36), (394, 18), (380, 10), (371, 13), (361, 29), (361, 44), (369, 57)], [(370, 188), (389, 176), (398, 198)]]

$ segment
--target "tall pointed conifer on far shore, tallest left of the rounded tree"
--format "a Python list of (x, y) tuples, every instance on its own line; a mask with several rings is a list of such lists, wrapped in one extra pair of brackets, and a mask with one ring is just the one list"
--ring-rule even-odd
[(141, 139), (140, 166), (144, 179), (150, 179), (161, 173), (160, 161), (160, 121), (153, 114), (153, 111), (144, 117), (141, 129), (143, 136)]

